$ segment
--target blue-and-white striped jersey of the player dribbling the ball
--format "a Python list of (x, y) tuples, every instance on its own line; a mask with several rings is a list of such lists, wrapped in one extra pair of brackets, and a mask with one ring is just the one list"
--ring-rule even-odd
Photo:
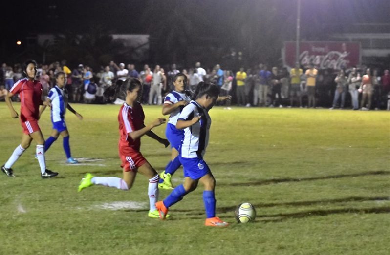
[(184, 139), (180, 147), (181, 157), (203, 157), (206, 152), (211, 126), (211, 118), (208, 111), (197, 102), (191, 101), (181, 111), (178, 120), (191, 120), (195, 116), (202, 116), (202, 118), (194, 125), (184, 129)]

